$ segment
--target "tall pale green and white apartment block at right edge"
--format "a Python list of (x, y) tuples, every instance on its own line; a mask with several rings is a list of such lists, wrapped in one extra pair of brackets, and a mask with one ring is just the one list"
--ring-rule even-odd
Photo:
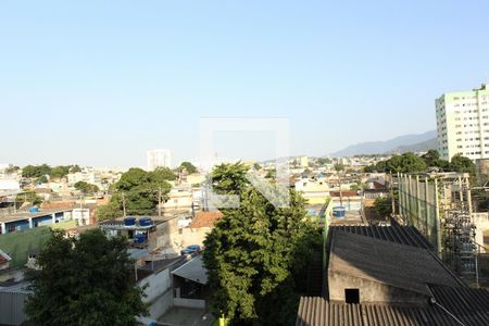
[(440, 156), (451, 160), (461, 153), (473, 161), (489, 159), (489, 84), (444, 93), (435, 102)]

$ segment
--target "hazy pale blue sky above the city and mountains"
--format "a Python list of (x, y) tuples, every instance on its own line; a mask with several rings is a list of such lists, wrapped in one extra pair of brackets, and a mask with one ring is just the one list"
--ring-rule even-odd
[[(213, 116), (288, 117), (292, 154), (310, 155), (435, 129), (436, 97), (489, 82), (488, 14), (487, 0), (0, 0), (0, 163), (195, 159)], [(264, 135), (224, 137), (220, 155), (263, 158)]]

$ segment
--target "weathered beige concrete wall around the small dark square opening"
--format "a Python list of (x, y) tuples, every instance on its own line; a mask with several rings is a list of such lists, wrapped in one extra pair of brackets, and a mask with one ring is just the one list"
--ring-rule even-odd
[(388, 302), (422, 304), (426, 297), (413, 291), (396, 288), (379, 281), (328, 272), (329, 300), (344, 302), (344, 289), (359, 289), (360, 303)]

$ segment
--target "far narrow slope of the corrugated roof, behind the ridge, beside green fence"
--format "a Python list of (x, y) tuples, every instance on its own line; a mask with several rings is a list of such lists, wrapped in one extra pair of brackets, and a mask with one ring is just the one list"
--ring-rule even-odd
[(331, 228), (371, 238), (434, 250), (432, 244), (414, 226), (331, 225)]

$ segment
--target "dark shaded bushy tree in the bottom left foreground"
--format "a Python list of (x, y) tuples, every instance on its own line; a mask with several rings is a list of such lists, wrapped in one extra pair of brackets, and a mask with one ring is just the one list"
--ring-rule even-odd
[(147, 313), (127, 240), (89, 230), (79, 238), (55, 230), (29, 271), (25, 312), (34, 325), (139, 325)]

